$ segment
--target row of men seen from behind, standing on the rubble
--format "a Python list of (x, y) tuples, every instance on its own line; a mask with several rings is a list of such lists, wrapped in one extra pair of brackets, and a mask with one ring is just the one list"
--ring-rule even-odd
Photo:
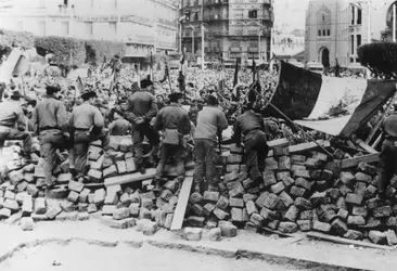
[[(197, 107), (191, 120), (189, 115), (193, 115), (192, 112), (188, 113), (181, 107), (181, 93), (169, 94), (169, 105), (158, 111), (156, 98), (151, 93), (152, 86), (153, 82), (148, 79), (141, 81), (141, 88), (128, 98), (126, 106), (116, 107), (113, 112), (114, 115), (120, 116), (120, 121), (110, 126), (110, 129), (131, 132), (135, 162), (141, 173), (145, 173), (142, 143), (144, 138), (149, 140), (157, 165), (157, 184), (162, 181), (170, 156), (177, 162), (178, 180), (182, 182), (185, 141), (189, 140), (189, 134), (192, 134), (195, 190), (217, 190), (218, 136), (228, 128), (227, 117), (219, 108), (217, 98), (207, 95), (205, 105)], [(0, 85), (0, 96), (3, 95), (3, 91), (4, 85)], [(71, 115), (66, 114), (64, 102), (59, 100), (60, 88), (48, 86), (46, 92), (44, 99), (34, 107), (30, 121), (39, 136), (47, 188), (51, 189), (54, 184), (52, 170), (57, 163), (57, 149), (69, 150), (69, 168), (74, 177), (87, 175), (88, 149), (92, 141), (102, 142), (106, 158), (112, 158), (114, 152), (110, 149), (110, 132), (105, 129), (105, 118), (94, 106), (94, 91), (87, 90), (81, 93), (82, 103), (75, 106)], [(3, 144), (7, 139), (24, 140), (24, 156), (30, 158), (31, 134), (26, 129), (25, 120), (23, 111), (16, 103), (0, 102), (0, 143)], [(262, 117), (254, 113), (252, 103), (245, 107), (245, 113), (238, 117), (232, 140), (221, 143), (235, 142), (240, 145), (241, 134), (244, 136), (249, 176), (260, 181), (268, 146)]]

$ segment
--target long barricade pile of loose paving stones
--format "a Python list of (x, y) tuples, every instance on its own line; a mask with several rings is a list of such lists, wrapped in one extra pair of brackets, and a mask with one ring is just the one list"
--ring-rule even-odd
[[(21, 147), (5, 147), (3, 152), (11, 159), (2, 172), (0, 219), (21, 219), (25, 230), (31, 230), (34, 221), (86, 220), (90, 216), (113, 228), (136, 227), (144, 234), (170, 229), (182, 193), (172, 173), (175, 168), (168, 166), (168, 179), (156, 191), (152, 185), (154, 169), (145, 176), (136, 172), (130, 138), (113, 138), (111, 142), (117, 152), (114, 160), (104, 158), (100, 142), (94, 142), (90, 146), (88, 178), (79, 181), (72, 180), (67, 155), (61, 153), (61, 163), (54, 170), (59, 186), (47, 198), (41, 191), (42, 160), (26, 164), (18, 155)], [(238, 229), (244, 228), (283, 234), (318, 231), (396, 245), (397, 179), (387, 188), (390, 199), (380, 201), (376, 168), (360, 163), (362, 154), (351, 158), (330, 146), (330, 142), (321, 144), (335, 157), (356, 158), (356, 163), (330, 162), (313, 143), (279, 145), (266, 159), (264, 183), (259, 186), (247, 177), (244, 150), (231, 145), (217, 166), (221, 173), (218, 191), (188, 194), (184, 225), (192, 228), (185, 228), (187, 238), (198, 240), (200, 228), (209, 229), (212, 240), (235, 236)], [(187, 164), (188, 178), (192, 167), (192, 163)]]

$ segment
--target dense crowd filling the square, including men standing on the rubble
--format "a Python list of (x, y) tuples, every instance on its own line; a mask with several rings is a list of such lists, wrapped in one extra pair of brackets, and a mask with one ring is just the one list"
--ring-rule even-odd
[[(307, 136), (293, 132), (283, 119), (264, 119), (260, 114), (277, 88), (276, 72), (258, 70), (256, 80), (252, 69), (192, 69), (181, 86), (179, 70), (138, 72), (135, 66), (121, 67), (118, 57), (110, 66), (68, 78), (48, 69), (30, 70), (23, 81), (0, 86), (0, 145), (8, 139), (24, 140), (27, 159), (41, 155), (48, 189), (53, 186), (59, 149), (68, 151), (71, 172), (84, 180), (90, 142), (102, 142), (105, 159), (115, 156), (110, 136), (131, 134), (131, 151), (141, 173), (148, 167), (142, 144), (144, 139), (149, 141), (157, 184), (170, 157), (178, 164), (178, 180), (182, 181), (183, 158), (193, 153), (195, 189), (201, 192), (217, 190), (218, 144), (239, 146), (243, 142), (248, 176), (258, 183), (267, 141)], [(229, 126), (233, 133), (222, 139)], [(41, 146), (34, 155), (33, 136), (39, 136)], [(324, 134), (312, 131), (311, 136)]]

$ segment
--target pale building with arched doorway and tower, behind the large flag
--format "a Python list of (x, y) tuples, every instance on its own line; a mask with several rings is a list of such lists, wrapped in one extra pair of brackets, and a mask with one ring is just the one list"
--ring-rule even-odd
[(311, 0), (306, 13), (306, 61), (361, 68), (357, 48), (390, 39), (394, 0)]

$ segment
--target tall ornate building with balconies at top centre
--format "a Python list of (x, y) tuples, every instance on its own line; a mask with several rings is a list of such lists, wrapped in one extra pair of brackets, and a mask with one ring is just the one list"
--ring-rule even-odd
[[(271, 0), (182, 0), (182, 48), (200, 54), (204, 24), (205, 60), (259, 60), (270, 57), (273, 24)], [(259, 42), (260, 40), (260, 42)]]

